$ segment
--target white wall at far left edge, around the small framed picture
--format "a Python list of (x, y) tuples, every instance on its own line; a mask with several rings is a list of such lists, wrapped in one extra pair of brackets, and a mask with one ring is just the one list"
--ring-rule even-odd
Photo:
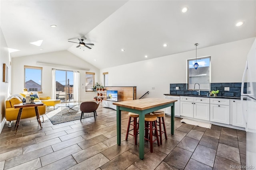
[[(3, 64), (6, 64), (9, 68), (9, 82), (5, 83), (3, 82)], [(5, 101), (8, 98), (10, 94), (10, 82), (11, 82), (11, 66), (10, 66), (10, 56), (8, 47), (4, 38), (4, 35), (2, 33), (2, 29), (0, 27), (0, 133), (4, 127), (4, 123), (6, 122), (5, 119)]]

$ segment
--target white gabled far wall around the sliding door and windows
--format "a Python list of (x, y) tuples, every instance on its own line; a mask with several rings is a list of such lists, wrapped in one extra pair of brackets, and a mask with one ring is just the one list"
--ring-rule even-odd
[[(49, 64), (56, 64), (55, 66)], [(30, 55), (12, 58), (12, 94), (22, 93), (24, 88), (24, 65), (43, 67), (42, 72), (42, 96), (52, 96), (52, 68), (60, 70), (80, 71), (80, 101), (93, 100), (95, 92), (85, 92), (85, 72), (95, 72), (95, 81), (99, 80), (99, 69), (73, 55), (69, 51), (58, 51), (38, 55)], [(72, 67), (72, 68), (70, 68)], [(89, 68), (81, 70), (78, 68)]]

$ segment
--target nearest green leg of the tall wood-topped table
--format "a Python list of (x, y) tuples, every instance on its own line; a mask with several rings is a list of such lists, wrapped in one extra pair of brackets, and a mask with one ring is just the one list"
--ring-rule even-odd
[(145, 135), (144, 127), (145, 127), (145, 114), (141, 113), (139, 115), (139, 131), (140, 131), (139, 157), (140, 159), (144, 158), (144, 135)]

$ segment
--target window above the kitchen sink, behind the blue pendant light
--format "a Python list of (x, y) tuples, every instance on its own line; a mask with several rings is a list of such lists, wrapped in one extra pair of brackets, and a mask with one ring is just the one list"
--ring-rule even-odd
[[(202, 57), (197, 59), (198, 68), (194, 68), (195, 59), (188, 60), (188, 90), (194, 89), (195, 83), (200, 84), (200, 90), (210, 90), (211, 78), (211, 57)], [(196, 85), (198, 89), (198, 85)]]

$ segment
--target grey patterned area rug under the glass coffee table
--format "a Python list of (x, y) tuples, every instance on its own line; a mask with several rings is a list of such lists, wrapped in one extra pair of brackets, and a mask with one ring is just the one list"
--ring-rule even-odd
[[(68, 121), (78, 120), (81, 118), (81, 111), (79, 107), (73, 107), (73, 109), (77, 110), (77, 112), (71, 112), (71, 113), (62, 113), (61, 108), (55, 109), (53, 111), (50, 111), (46, 113), (46, 116), (49, 118), (49, 120), (52, 122), (53, 125), (64, 123)], [(93, 113), (84, 113), (84, 118), (88, 117), (94, 117)]]

